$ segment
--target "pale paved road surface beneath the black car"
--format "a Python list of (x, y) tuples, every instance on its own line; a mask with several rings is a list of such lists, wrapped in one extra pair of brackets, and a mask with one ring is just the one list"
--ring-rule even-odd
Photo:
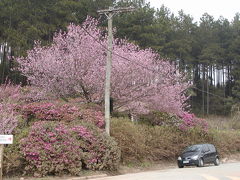
[(202, 168), (186, 167), (120, 176), (98, 178), (98, 180), (240, 180), (240, 163), (220, 164)]

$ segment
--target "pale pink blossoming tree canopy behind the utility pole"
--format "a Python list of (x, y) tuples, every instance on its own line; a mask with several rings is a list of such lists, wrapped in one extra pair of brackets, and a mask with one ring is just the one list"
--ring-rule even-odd
[[(17, 58), (19, 69), (33, 86), (58, 97), (81, 95), (88, 102), (104, 96), (107, 37), (98, 21), (88, 17), (56, 33), (50, 46), (36, 42), (26, 57)], [(111, 97), (114, 107), (132, 112), (160, 110), (180, 115), (189, 84), (174, 65), (151, 49), (140, 49), (114, 39)]]

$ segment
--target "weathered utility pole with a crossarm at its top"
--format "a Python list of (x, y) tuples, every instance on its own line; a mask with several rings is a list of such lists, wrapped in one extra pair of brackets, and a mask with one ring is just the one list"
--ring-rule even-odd
[(122, 7), (103, 9), (97, 11), (99, 14), (105, 14), (108, 18), (108, 48), (107, 48), (107, 64), (106, 64), (106, 78), (105, 78), (105, 130), (110, 135), (110, 92), (111, 92), (111, 69), (112, 69), (112, 49), (113, 49), (113, 33), (112, 21), (113, 16), (120, 12), (134, 11), (133, 7)]

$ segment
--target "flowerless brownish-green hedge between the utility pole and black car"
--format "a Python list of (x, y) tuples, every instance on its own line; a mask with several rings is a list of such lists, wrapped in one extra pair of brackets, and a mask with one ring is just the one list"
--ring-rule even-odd
[[(111, 135), (121, 148), (124, 163), (176, 160), (188, 145), (211, 142), (216, 144), (212, 133), (198, 127), (182, 131), (175, 126), (135, 124), (126, 118), (113, 119)], [(220, 140), (221, 137), (218, 136), (217, 139)]]

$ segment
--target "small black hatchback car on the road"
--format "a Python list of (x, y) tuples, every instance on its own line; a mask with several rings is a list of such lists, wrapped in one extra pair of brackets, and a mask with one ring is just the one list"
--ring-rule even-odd
[(212, 144), (195, 144), (187, 147), (178, 157), (178, 167), (198, 166), (203, 167), (204, 164), (213, 163), (218, 166), (220, 164), (217, 150)]

